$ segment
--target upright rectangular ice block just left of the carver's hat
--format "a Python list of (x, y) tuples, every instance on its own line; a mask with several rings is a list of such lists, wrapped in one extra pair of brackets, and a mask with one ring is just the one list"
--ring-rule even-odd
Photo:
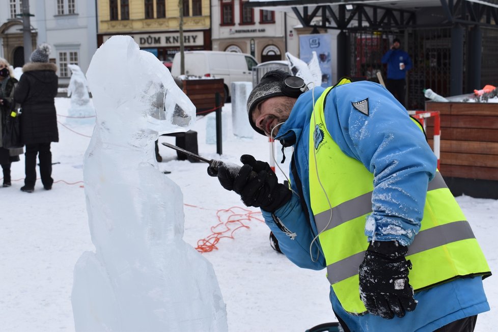
[(252, 82), (232, 82), (232, 131), (237, 137), (252, 139), (254, 135), (247, 116), (247, 98), (252, 90)]

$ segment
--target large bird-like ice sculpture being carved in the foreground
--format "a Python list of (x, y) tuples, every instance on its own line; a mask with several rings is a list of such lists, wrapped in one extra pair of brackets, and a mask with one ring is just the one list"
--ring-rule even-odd
[(195, 120), (168, 69), (129, 36), (87, 72), (97, 121), (84, 179), (96, 251), (74, 268), (76, 331), (226, 331), (212, 265), (183, 237), (183, 196), (157, 169), (154, 141)]

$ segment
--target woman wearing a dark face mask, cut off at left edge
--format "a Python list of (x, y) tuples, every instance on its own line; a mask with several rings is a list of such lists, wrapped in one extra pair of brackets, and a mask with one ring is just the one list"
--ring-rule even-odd
[(12, 162), (19, 161), (19, 155), (23, 152), (19, 149), (6, 149), (2, 140), (2, 134), (5, 130), (7, 117), (10, 117), (12, 112), (16, 112), (14, 102), (14, 91), (17, 85), (17, 79), (14, 78), (12, 69), (9, 63), (4, 58), (0, 58), (0, 164), (4, 173), (3, 187), (12, 185), (10, 178), (10, 167)]

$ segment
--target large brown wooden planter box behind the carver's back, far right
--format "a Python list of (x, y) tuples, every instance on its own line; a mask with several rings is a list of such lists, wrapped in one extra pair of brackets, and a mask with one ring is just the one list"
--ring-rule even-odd
[[(426, 102), (425, 108), (441, 115), (441, 175), (474, 180), (467, 184), (492, 185), (498, 196), (498, 103)], [(433, 123), (429, 118), (431, 146)]]

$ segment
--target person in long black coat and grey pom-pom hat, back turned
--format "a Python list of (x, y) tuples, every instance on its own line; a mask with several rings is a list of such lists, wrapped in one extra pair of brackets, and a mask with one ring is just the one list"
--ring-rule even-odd
[(40, 176), (46, 190), (52, 188), (52, 154), (50, 143), (59, 142), (54, 98), (57, 95), (57, 66), (48, 63), (50, 46), (40, 45), (31, 62), (22, 67), (22, 76), (14, 93), (21, 104), (21, 140), (26, 146), (24, 186), (22, 191), (33, 192), (36, 182), (36, 155), (40, 160)]

